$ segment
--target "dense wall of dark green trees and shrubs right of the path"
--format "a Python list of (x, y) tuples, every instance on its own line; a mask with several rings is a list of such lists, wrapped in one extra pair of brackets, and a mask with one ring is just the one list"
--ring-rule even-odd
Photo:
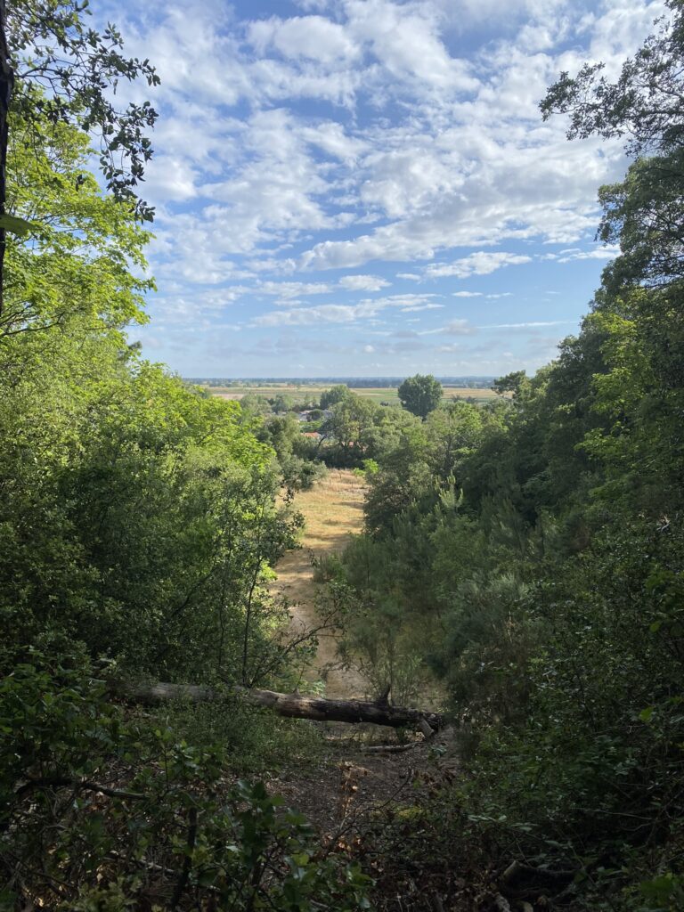
[(378, 693), (405, 699), (431, 674), (461, 731), (462, 778), (414, 821), (434, 840), (388, 837), (388, 883), (441, 853), (459, 877), (490, 871), (499, 908), (684, 905), (684, 18), (669, 6), (615, 84), (586, 67), (544, 102), (572, 136), (627, 133), (637, 155), (601, 192), (621, 253), (581, 332), (533, 378), (501, 378), (510, 402), (400, 431), (367, 532), (326, 568)]

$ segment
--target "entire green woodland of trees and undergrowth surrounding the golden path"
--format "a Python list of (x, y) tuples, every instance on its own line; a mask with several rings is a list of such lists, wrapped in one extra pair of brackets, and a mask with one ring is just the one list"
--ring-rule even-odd
[[(0, 4), (0, 908), (684, 908), (680, 0), (615, 81), (587, 64), (541, 102), (630, 160), (578, 335), (487, 401), (333, 386), (308, 434), (130, 343), (156, 112), (108, 88), (157, 77), (87, 14)], [(359, 698), (439, 694), (440, 731), (390, 745), (412, 802), (323, 833), (269, 775), (303, 775), (326, 723), (248, 698), (325, 700), (321, 630), (288, 633), (274, 580), (326, 464), (365, 500), (316, 566), (321, 627)], [(159, 682), (175, 699), (135, 698)]]

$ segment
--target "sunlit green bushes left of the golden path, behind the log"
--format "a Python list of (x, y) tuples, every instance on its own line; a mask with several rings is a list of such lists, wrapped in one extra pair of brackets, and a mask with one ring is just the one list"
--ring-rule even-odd
[(22, 618), (15, 636), (68, 632), (160, 677), (275, 672), (265, 583), (298, 520), (275, 507), (272, 453), (239, 408), (89, 327), (10, 353), (0, 610)]

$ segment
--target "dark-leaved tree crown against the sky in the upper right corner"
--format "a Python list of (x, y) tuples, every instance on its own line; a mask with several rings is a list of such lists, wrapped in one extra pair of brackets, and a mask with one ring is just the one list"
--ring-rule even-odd
[(638, 157), (624, 181), (599, 193), (597, 235), (621, 248), (604, 273), (613, 293), (684, 277), (684, 5), (667, 5), (671, 17), (658, 19), (615, 82), (602, 75), (602, 63), (586, 64), (575, 77), (561, 73), (541, 103), (544, 119), (569, 115), (568, 139), (624, 136), (627, 154)]

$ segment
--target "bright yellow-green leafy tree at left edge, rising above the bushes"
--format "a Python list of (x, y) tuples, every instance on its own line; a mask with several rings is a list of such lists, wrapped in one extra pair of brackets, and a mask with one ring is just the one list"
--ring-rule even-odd
[(109, 326), (144, 322), (142, 253), (150, 233), (128, 202), (102, 195), (88, 170), (88, 136), (67, 123), (34, 119), (13, 130), (7, 202), (32, 225), (31, 244), (7, 239), (0, 340), (28, 329), (97, 316)]

